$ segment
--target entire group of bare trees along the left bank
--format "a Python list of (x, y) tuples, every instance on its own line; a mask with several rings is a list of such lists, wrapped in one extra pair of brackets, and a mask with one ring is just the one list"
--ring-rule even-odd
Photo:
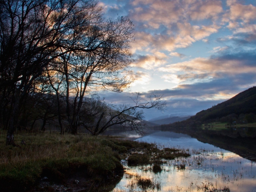
[(134, 106), (112, 106), (91, 90), (129, 87), (133, 24), (105, 20), (94, 0), (0, 1), (0, 126), (32, 129), (37, 120), (58, 122), (60, 133), (83, 126), (100, 134), (121, 124), (139, 130), (139, 108), (162, 109), (161, 96), (135, 96)]

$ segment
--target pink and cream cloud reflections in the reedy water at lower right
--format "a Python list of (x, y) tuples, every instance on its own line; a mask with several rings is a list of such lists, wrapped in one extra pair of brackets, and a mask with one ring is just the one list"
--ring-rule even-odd
[[(153, 172), (143, 172), (142, 167), (131, 167), (127, 170), (128, 174), (139, 174), (144, 178), (153, 178), (161, 180), (161, 191), (168, 190), (176, 191), (198, 191), (197, 186), (203, 186), (203, 183), (210, 183), (212, 187), (218, 189), (225, 186), (230, 188), (232, 192), (247, 192), (255, 191), (255, 180), (252, 178), (256, 174), (256, 164), (250, 162), (232, 152), (211, 153), (210, 155), (195, 155), (201, 156), (205, 160), (201, 165), (193, 163), (194, 156), (190, 158), (180, 158), (179, 160), (170, 161), (170, 166), (163, 166), (161, 173), (154, 174)], [(186, 160), (186, 169), (178, 170), (174, 164)], [(241, 164), (240, 164), (241, 162)], [(189, 166), (189, 164), (191, 164)], [(145, 168), (145, 167), (144, 167)], [(124, 176), (118, 184), (119, 188), (125, 191), (130, 180), (128, 176)]]

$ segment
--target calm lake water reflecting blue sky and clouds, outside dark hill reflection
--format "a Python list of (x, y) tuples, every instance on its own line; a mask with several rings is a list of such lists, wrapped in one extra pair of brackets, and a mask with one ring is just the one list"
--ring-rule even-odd
[[(136, 174), (160, 183), (160, 190), (155, 188), (146, 191), (210, 192), (228, 187), (231, 192), (256, 192), (256, 163), (233, 152), (174, 132), (158, 131), (137, 140), (156, 143), (159, 148), (185, 148), (191, 156), (168, 161), (162, 165), (162, 172), (156, 174), (150, 171), (150, 166), (126, 165), (126, 173), (113, 192), (142, 191), (134, 184)], [(185, 169), (179, 170), (178, 164), (185, 164)]]

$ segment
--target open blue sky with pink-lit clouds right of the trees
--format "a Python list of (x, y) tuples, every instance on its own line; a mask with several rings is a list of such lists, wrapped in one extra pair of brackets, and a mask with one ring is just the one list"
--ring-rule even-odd
[[(256, 0), (100, 0), (105, 18), (128, 16), (136, 42), (129, 90), (105, 91), (114, 104), (135, 92), (163, 94), (164, 112), (210, 108), (256, 85)], [(132, 103), (131, 103), (132, 104)]]

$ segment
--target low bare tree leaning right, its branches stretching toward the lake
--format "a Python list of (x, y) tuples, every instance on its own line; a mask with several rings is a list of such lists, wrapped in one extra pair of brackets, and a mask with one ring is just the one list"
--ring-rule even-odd
[(162, 100), (162, 95), (151, 93), (148, 96), (137, 93), (131, 97), (134, 105), (110, 105), (103, 103), (104, 110), (94, 114), (94, 122), (86, 122), (81, 118), (80, 125), (84, 126), (93, 135), (103, 133), (105, 130), (114, 125), (120, 125), (125, 128), (130, 128), (136, 132), (143, 132), (147, 126), (143, 121), (144, 112), (142, 109), (156, 108), (164, 110), (166, 102)]

